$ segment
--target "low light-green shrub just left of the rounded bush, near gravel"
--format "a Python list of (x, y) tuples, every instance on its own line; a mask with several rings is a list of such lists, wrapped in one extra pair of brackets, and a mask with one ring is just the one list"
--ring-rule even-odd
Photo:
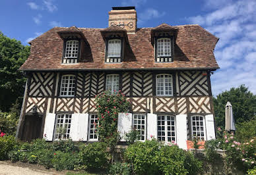
[(79, 162), (79, 157), (75, 153), (56, 151), (51, 162), (56, 170), (73, 170)]

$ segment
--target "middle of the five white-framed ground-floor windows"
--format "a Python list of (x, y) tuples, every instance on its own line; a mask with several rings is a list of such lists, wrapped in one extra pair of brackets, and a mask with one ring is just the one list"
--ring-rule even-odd
[[(136, 119), (135, 119), (135, 116), (136, 116)], [(144, 119), (142, 118), (143, 116), (144, 116)], [(143, 124), (143, 121), (144, 121), (144, 124)], [(142, 129), (142, 126), (144, 126), (144, 130)], [(140, 139), (137, 139), (137, 140), (145, 141), (146, 140), (146, 114), (133, 114), (133, 128), (135, 128), (135, 130), (139, 131), (140, 133)], [(141, 139), (143, 136), (144, 136), (144, 139)]]

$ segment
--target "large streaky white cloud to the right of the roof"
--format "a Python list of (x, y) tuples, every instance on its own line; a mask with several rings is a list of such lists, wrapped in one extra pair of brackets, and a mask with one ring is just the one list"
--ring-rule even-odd
[(256, 94), (255, 6), (254, 0), (205, 0), (211, 12), (188, 18), (220, 37), (214, 51), (220, 66), (212, 76), (214, 95), (241, 84)]

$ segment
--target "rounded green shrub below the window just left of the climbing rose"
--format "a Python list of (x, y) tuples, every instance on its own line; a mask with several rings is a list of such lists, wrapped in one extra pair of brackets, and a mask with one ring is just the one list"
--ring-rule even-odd
[(107, 144), (94, 142), (85, 145), (79, 153), (82, 164), (89, 170), (92, 168), (104, 169), (108, 166)]

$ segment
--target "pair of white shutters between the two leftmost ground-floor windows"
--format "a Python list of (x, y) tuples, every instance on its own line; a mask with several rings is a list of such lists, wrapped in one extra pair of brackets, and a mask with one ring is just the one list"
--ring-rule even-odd
[(73, 141), (87, 141), (89, 114), (72, 114), (69, 137)]

